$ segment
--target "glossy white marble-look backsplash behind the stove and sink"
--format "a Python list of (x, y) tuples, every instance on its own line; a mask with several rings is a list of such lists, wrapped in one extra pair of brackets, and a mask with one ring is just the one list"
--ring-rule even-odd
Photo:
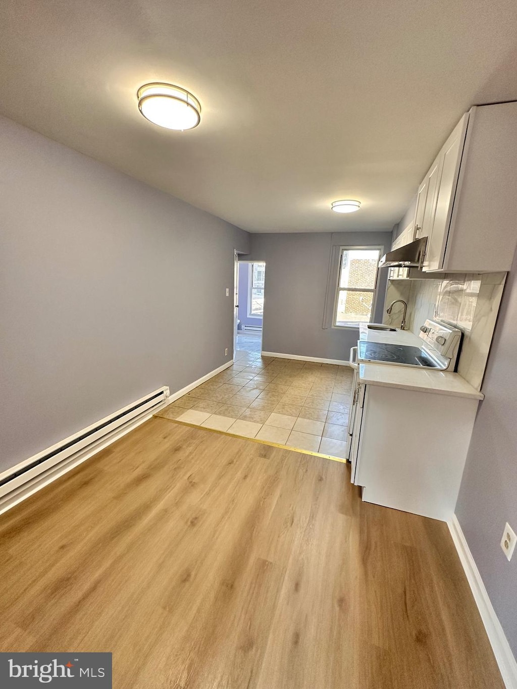
[[(426, 318), (444, 320), (463, 331), (458, 373), (481, 388), (506, 273), (444, 275), (440, 279), (388, 280), (386, 305), (407, 302), (407, 329), (418, 335)], [(397, 304), (385, 323), (401, 326), (403, 307)]]

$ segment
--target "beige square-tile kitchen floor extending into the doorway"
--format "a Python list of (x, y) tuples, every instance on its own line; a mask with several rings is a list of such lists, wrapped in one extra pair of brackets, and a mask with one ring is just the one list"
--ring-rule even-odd
[(260, 336), (239, 336), (238, 347), (232, 367), (157, 415), (343, 458), (352, 371), (263, 357)]

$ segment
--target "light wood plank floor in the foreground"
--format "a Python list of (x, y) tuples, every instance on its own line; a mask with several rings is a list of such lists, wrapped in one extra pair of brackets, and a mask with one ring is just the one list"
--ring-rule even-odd
[(440, 522), (345, 464), (153, 418), (0, 516), (0, 650), (116, 689), (502, 688)]

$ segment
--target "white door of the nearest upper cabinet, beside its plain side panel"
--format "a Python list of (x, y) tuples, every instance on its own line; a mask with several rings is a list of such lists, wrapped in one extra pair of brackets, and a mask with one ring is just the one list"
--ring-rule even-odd
[(467, 132), (468, 113), (465, 114), (454, 128), (451, 136), (445, 142), (438, 156), (440, 162), (439, 183), (436, 190), (436, 205), (432, 232), (428, 235), (425, 251), (424, 270), (440, 270), (443, 268), (443, 257), (449, 235), (452, 206), (458, 184), (461, 156)]

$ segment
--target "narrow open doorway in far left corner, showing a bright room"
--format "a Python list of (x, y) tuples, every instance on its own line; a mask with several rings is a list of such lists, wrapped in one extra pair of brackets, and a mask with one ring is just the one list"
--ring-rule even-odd
[(265, 263), (236, 260), (234, 360), (258, 358), (262, 351)]

